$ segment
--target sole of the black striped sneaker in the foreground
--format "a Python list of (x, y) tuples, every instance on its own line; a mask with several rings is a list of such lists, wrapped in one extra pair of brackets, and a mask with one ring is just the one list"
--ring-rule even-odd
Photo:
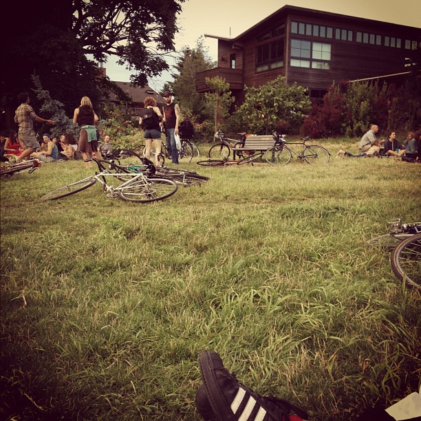
[(237, 421), (228, 406), (225, 396), (218, 385), (215, 370), (225, 369), (224, 363), (216, 352), (203, 351), (199, 354), (199, 367), (208, 400), (218, 421)]

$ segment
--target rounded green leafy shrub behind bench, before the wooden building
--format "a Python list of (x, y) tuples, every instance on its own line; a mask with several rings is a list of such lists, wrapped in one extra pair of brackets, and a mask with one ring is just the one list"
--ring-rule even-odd
[(280, 76), (260, 87), (246, 87), (237, 119), (244, 129), (255, 134), (298, 131), (310, 108), (307, 89), (296, 83), (288, 85)]

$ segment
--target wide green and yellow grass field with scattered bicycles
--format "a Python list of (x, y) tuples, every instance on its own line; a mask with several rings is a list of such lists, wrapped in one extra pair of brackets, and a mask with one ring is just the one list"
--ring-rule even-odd
[(42, 202), (80, 161), (1, 180), (1, 418), (199, 420), (204, 349), (312, 420), (418, 390), (420, 294), (367, 240), (421, 219), (421, 165), (323, 145), (330, 164), (193, 161), (210, 180), (153, 204)]

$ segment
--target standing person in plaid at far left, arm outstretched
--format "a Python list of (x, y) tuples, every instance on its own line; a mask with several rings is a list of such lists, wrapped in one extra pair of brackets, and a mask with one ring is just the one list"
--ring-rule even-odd
[(34, 109), (29, 105), (30, 98), (28, 92), (21, 92), (18, 95), (18, 101), (21, 105), (19, 105), (14, 113), (14, 122), (19, 125), (18, 136), (26, 148), (16, 159), (16, 162), (21, 162), (23, 158), (39, 148), (34, 131), (34, 121), (44, 122), (49, 125), (54, 125), (54, 121), (45, 120), (35, 114)]

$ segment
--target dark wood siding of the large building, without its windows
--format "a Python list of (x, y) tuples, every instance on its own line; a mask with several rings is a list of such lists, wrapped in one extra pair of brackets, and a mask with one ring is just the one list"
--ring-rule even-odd
[[(332, 28), (332, 38), (316, 36), (313, 33), (311, 35), (305, 33), (292, 34), (292, 21), (319, 25), (319, 27), (322, 25), (330, 27)], [(269, 37), (263, 36), (282, 23), (285, 23), (285, 34), (275, 32), (277, 36), (273, 36), (274, 32), (272, 32)], [(352, 41), (336, 39), (336, 29), (352, 32)], [(376, 42), (357, 42), (357, 32), (380, 37), (380, 44), (378, 45)], [(391, 37), (400, 39), (400, 47), (386, 46), (385, 36), (389, 39)], [(330, 68), (314, 69), (291, 66), (292, 39), (310, 41), (311, 46), (313, 43), (329, 44), (331, 46)], [(275, 40), (283, 40), (283, 67), (257, 72), (257, 47)], [(417, 47), (414, 50), (406, 49), (406, 40), (413, 41)], [(294, 6), (284, 6), (267, 19), (237, 36), (237, 38), (233, 40), (219, 39), (218, 50), (218, 66), (220, 69), (229, 69), (229, 56), (235, 52), (236, 68), (242, 69), (242, 83), (244, 85), (259, 87), (278, 76), (285, 76), (287, 83), (296, 82), (312, 89), (328, 89), (333, 82), (339, 82), (340, 80), (355, 80), (406, 72), (408, 70), (407, 67), (404, 67), (406, 57), (412, 58), (414, 62), (420, 60), (421, 29)], [(224, 57), (224, 60), (222, 60), (222, 57)], [(261, 58), (261, 56), (259, 57)], [(232, 77), (231, 80), (235, 89), (239, 89), (237, 77), (238, 75), (235, 79)], [(199, 91), (206, 90), (206, 86), (199, 85), (197, 87)]]

